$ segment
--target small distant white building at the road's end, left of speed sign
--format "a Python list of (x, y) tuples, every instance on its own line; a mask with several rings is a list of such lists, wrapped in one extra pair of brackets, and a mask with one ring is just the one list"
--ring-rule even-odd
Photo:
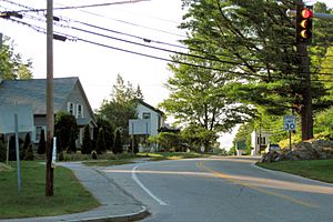
[(269, 131), (253, 131), (251, 133), (251, 147), (252, 155), (260, 155), (260, 151), (263, 151), (266, 145), (270, 143), (271, 132)]

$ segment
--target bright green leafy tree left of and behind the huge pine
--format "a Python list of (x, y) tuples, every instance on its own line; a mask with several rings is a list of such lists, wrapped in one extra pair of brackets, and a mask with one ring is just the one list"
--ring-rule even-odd
[[(198, 52), (193, 53), (200, 56)], [(213, 61), (184, 56), (173, 59), (208, 68), (218, 65)], [(204, 131), (218, 133), (230, 131), (235, 124), (251, 117), (250, 107), (226, 97), (228, 92), (223, 87), (230, 81), (228, 74), (188, 64), (169, 64), (169, 67), (174, 73), (167, 84), (171, 93), (160, 105), (168, 114), (172, 114), (178, 123), (196, 125)]]

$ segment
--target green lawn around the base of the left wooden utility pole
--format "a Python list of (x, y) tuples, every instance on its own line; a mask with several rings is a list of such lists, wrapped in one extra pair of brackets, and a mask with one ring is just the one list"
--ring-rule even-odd
[(62, 167), (54, 169), (54, 195), (44, 196), (46, 165), (37, 161), (21, 161), (22, 190), (18, 193), (16, 162), (10, 167), (0, 165), (0, 219), (60, 215), (100, 205)]

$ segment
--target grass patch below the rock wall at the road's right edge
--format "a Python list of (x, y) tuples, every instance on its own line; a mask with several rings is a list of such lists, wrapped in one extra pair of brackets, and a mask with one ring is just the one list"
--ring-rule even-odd
[(333, 160), (281, 161), (259, 167), (333, 183)]

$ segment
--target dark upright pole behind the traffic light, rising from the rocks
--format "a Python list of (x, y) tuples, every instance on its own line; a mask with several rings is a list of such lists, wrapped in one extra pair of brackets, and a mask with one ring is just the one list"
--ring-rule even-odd
[[(304, 3), (302, 0), (296, 0), (296, 13), (302, 13), (302, 9), (304, 8)], [(297, 31), (297, 21), (300, 18), (296, 16), (296, 34)], [(299, 38), (299, 37), (296, 37)], [(310, 59), (306, 50), (307, 42), (306, 41), (297, 41), (296, 51), (300, 57), (300, 73), (302, 73), (302, 79), (304, 79), (302, 85), (302, 107), (301, 107), (301, 120), (302, 120), (302, 141), (309, 140), (313, 138), (313, 117), (312, 117), (312, 93), (311, 93), (311, 72), (310, 72)]]

